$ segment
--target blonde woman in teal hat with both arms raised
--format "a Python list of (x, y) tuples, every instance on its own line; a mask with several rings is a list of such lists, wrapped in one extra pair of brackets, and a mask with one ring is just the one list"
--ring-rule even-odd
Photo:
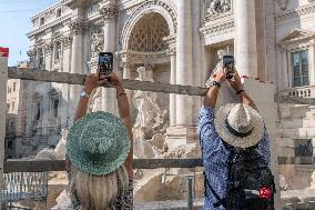
[[(120, 118), (106, 112), (87, 114), (89, 96), (105, 83), (116, 90)], [(68, 136), (67, 154), (72, 197), (72, 207), (67, 209), (132, 209), (132, 124), (128, 97), (115, 73), (101, 80), (95, 74), (87, 77)]]

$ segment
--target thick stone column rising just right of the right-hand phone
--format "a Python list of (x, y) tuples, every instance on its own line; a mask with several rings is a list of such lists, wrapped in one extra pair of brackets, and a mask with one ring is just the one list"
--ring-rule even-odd
[(235, 56), (241, 76), (257, 77), (255, 1), (235, 0)]

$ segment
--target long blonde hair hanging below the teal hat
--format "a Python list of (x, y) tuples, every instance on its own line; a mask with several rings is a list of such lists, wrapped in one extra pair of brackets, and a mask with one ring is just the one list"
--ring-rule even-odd
[(77, 196), (80, 210), (116, 210), (119, 189), (128, 190), (129, 178), (124, 166), (106, 176), (90, 176), (72, 167), (70, 191)]

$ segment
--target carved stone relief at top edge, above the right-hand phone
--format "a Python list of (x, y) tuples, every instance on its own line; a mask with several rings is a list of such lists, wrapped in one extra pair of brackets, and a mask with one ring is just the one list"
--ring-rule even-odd
[(204, 21), (232, 11), (231, 0), (204, 0)]

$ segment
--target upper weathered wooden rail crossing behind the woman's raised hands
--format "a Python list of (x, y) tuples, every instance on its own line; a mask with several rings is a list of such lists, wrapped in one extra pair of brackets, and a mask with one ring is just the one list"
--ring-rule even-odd
[[(43, 71), (43, 70), (30, 70), (30, 69), (9, 69), (10, 79), (33, 80), (43, 82), (57, 82), (69, 84), (84, 84), (84, 74), (65, 73), (57, 71)], [(164, 92), (189, 96), (205, 96), (207, 88), (191, 87), (191, 86), (177, 86), (161, 82), (149, 82), (138, 80), (123, 80), (125, 89), (129, 90), (143, 90), (151, 92)], [(104, 88), (112, 88), (111, 86), (104, 86)]]

